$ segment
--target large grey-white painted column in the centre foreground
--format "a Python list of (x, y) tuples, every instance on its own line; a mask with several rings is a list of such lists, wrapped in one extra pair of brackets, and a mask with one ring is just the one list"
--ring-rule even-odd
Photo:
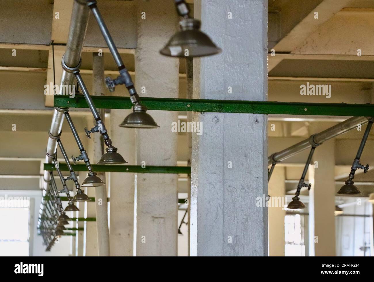
[[(223, 50), (194, 59), (194, 98), (266, 100), (267, 0), (195, 0), (194, 16)], [(256, 198), (268, 195), (267, 116), (194, 121), (202, 135), (192, 136), (190, 255), (266, 256), (267, 208)]]

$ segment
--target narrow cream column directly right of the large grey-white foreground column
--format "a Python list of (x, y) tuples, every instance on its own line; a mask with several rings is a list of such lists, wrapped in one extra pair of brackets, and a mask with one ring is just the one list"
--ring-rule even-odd
[[(275, 166), (269, 181), (269, 255), (284, 257), (284, 217), (286, 211), (281, 203), (285, 203), (285, 167)], [(271, 203), (271, 204), (270, 204)]]

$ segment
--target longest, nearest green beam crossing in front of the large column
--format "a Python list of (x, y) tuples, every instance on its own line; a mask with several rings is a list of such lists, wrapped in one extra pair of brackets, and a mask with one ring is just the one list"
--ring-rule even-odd
[[(96, 108), (131, 109), (129, 97), (91, 96)], [(374, 105), (345, 103), (294, 103), (203, 99), (141, 98), (142, 104), (150, 110), (193, 111), (193, 112), (234, 112), (246, 114), (285, 114), (285, 115), (338, 115), (371, 117)], [(70, 98), (55, 95), (54, 106), (61, 108), (88, 108), (83, 95)]]

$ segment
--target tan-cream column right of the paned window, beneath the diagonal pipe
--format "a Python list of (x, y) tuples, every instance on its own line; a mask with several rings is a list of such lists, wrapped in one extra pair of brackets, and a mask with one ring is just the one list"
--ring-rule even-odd
[(309, 169), (309, 180), (314, 174), (314, 185), (309, 191), (309, 255), (313, 256), (314, 251), (315, 256), (335, 256), (334, 139), (316, 148)]

